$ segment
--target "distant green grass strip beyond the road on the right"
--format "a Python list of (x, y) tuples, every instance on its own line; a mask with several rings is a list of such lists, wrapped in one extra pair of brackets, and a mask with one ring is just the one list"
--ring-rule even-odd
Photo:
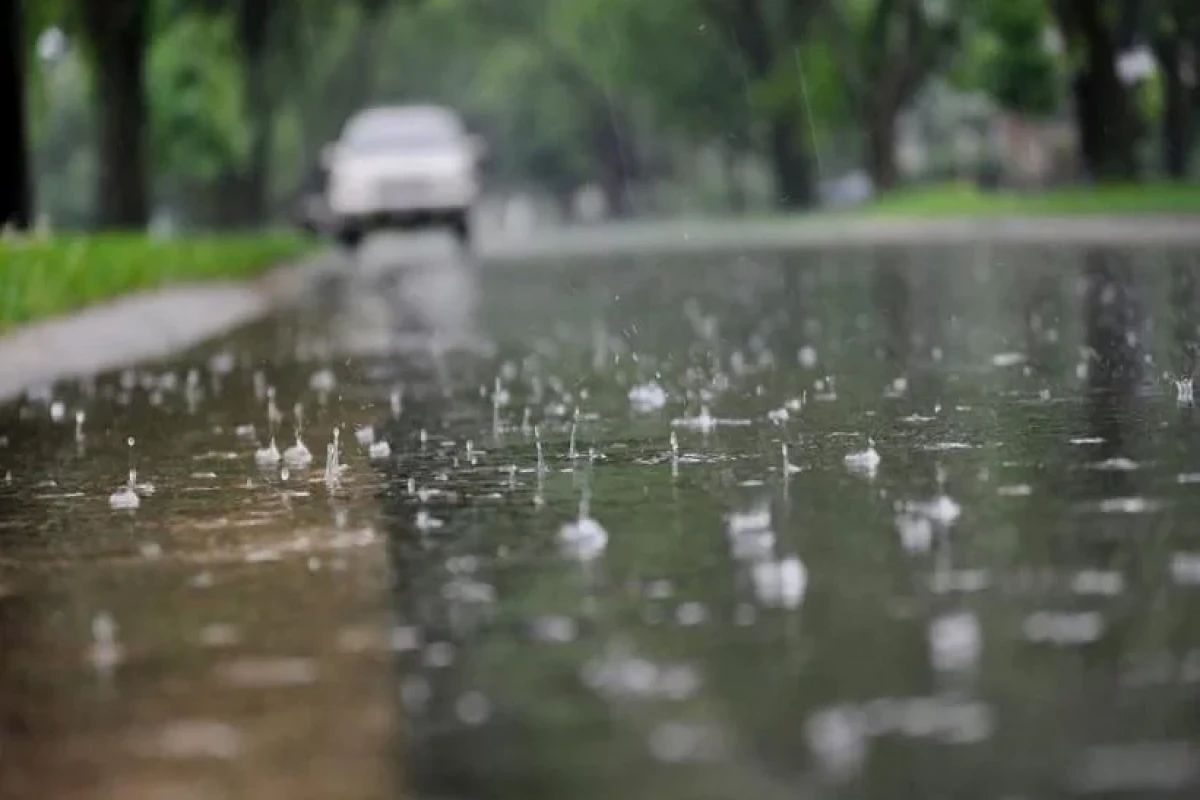
[(898, 190), (860, 211), (882, 217), (1200, 215), (1200, 185), (1139, 184), (1028, 192), (983, 192), (970, 185)]

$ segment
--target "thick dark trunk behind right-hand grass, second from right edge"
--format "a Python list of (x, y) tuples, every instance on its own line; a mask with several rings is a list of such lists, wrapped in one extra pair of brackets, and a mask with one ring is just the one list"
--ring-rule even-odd
[(1132, 180), (1138, 173), (1138, 118), (1116, 66), (1128, 2), (1054, 0), (1052, 6), (1073, 72), (1080, 156), (1093, 180)]

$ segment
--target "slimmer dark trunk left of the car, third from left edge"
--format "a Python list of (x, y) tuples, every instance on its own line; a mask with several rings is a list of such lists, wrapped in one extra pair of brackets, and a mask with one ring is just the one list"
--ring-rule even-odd
[(266, 86), (266, 46), (270, 31), (269, 0), (241, 0), (238, 38), (242, 58), (242, 91), (250, 120), (250, 158), (241, 174), (241, 222), (260, 224), (268, 216), (274, 108)]

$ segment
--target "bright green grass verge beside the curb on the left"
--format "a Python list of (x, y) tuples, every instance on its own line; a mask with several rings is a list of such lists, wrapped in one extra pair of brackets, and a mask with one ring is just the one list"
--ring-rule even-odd
[(0, 240), (0, 331), (168, 283), (240, 279), (312, 249), (288, 235)]

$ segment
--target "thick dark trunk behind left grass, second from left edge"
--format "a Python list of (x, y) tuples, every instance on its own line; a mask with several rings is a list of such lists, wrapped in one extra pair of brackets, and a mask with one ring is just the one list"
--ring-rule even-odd
[(100, 122), (96, 213), (101, 228), (144, 229), (150, 217), (144, 0), (84, 0)]

